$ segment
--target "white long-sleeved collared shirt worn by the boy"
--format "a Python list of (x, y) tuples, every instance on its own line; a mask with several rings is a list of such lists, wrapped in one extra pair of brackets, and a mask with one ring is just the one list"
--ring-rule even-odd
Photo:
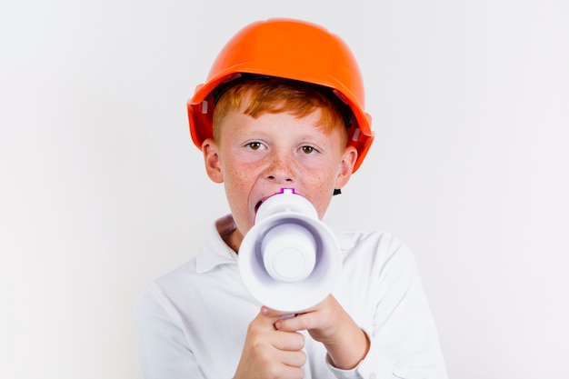
[[(323, 344), (307, 333), (305, 379), (445, 379), (438, 336), (409, 248), (385, 232), (330, 227), (343, 267), (334, 297), (368, 334), (371, 346), (353, 370), (335, 369)], [(195, 258), (148, 283), (135, 310), (146, 379), (230, 379), (259, 313), (220, 234), (235, 229), (231, 215), (215, 223)]]

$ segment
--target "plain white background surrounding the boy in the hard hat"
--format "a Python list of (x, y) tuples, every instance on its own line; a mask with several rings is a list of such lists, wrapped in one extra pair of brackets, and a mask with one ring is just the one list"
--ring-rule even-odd
[(138, 378), (133, 306), (227, 212), (185, 101), (239, 28), (344, 37), (377, 135), (327, 219), (410, 244), (456, 379), (569, 377), (569, 3), (0, 5), (0, 377)]

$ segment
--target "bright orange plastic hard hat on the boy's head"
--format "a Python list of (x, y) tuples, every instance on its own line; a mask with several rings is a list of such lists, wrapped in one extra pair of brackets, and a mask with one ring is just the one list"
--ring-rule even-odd
[[(349, 106), (348, 145), (358, 151), (354, 172), (364, 160), (374, 132), (372, 117), (364, 112), (364, 82), (350, 48), (319, 25), (290, 19), (269, 19), (245, 26), (221, 50), (207, 75), (188, 101), (190, 132), (201, 149), (213, 137), (214, 90), (235, 77), (275, 76), (330, 89)], [(334, 102), (334, 100), (333, 100)], [(342, 110), (340, 110), (342, 113)], [(344, 115), (345, 118), (345, 115)]]

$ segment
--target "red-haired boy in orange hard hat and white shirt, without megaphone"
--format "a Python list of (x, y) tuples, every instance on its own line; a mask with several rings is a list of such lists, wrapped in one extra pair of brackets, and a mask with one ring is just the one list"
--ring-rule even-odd
[(246, 26), (188, 103), (205, 170), (231, 214), (195, 259), (147, 285), (136, 310), (146, 378), (445, 378), (434, 322), (408, 248), (390, 234), (334, 229), (333, 294), (282, 318), (237, 270), (259, 204), (283, 187), (322, 219), (372, 140), (354, 57), (317, 25)]

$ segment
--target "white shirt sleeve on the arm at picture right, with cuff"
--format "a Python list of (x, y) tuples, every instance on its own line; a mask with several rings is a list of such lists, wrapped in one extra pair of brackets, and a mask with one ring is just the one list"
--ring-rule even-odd
[(374, 291), (370, 350), (352, 370), (330, 370), (338, 379), (446, 379), (434, 319), (410, 249), (390, 241)]

